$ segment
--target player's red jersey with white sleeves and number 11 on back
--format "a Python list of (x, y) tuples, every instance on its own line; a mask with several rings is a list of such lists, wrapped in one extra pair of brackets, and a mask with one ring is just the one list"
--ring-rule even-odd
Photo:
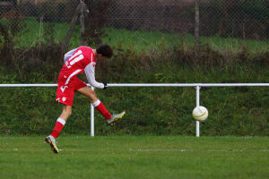
[(65, 64), (61, 72), (65, 72), (66, 82), (79, 73), (85, 72), (90, 85), (103, 89), (104, 84), (95, 81), (95, 55), (90, 47), (78, 47), (65, 54)]

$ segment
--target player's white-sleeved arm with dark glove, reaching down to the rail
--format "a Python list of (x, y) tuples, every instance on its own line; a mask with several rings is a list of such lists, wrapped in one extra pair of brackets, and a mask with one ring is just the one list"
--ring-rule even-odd
[(107, 88), (106, 83), (95, 81), (95, 63), (88, 64), (85, 67), (84, 71), (86, 73), (87, 80), (89, 81), (91, 86), (93, 86), (94, 88), (99, 88), (99, 89)]

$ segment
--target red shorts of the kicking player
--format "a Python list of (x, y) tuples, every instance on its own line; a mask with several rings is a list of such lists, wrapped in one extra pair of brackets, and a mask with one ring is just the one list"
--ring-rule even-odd
[(58, 88), (56, 91), (56, 101), (66, 106), (72, 106), (74, 100), (74, 91), (86, 87), (86, 83), (79, 80), (77, 77), (72, 77), (66, 84), (66, 76), (60, 73), (58, 78)]

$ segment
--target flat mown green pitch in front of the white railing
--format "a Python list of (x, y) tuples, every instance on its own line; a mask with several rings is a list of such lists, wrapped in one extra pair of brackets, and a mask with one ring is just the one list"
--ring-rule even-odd
[(268, 137), (0, 137), (0, 178), (269, 178)]

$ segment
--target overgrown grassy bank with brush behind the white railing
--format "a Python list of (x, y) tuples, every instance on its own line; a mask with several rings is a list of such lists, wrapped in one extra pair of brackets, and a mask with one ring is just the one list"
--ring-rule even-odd
[[(46, 59), (35, 64), (35, 69), (39, 69), (35, 72), (14, 72), (2, 66), (1, 83), (56, 83), (60, 64), (47, 63)], [(118, 49), (113, 59), (98, 64), (96, 78), (108, 83), (268, 82), (268, 53), (251, 57), (242, 51), (227, 57), (204, 47), (201, 59), (193, 59), (192, 51), (181, 47), (140, 55), (132, 48)], [(80, 78), (86, 80), (84, 75)], [(62, 110), (54, 100), (56, 88), (0, 90), (0, 133), (51, 132)], [(113, 128), (96, 111), (97, 135), (195, 134), (191, 116), (195, 107), (193, 88), (108, 88), (96, 92), (110, 112), (126, 110), (126, 116)], [(268, 97), (265, 87), (202, 88), (201, 105), (209, 110), (209, 118), (201, 124), (203, 135), (268, 135)], [(63, 132), (90, 133), (87, 98), (75, 95), (73, 114)]]

